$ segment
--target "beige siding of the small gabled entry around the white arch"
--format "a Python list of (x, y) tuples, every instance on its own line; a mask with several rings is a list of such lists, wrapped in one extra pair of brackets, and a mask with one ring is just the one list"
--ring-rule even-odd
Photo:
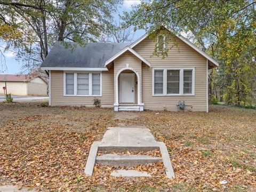
[[(116, 74), (118, 73), (118, 71), (122, 68), (126, 67), (126, 64), (129, 64), (129, 67), (135, 69), (137, 71), (137, 73), (140, 76), (140, 83), (141, 83), (141, 60), (138, 59), (136, 56), (134, 56), (131, 52), (127, 51), (124, 54), (122, 54), (120, 57), (118, 57), (115, 61), (114, 61), (114, 78), (116, 79)], [(126, 71), (127, 72), (127, 71)], [(132, 72), (132, 71), (131, 71)], [(136, 76), (136, 74), (135, 74)], [(136, 78), (137, 79), (137, 78)], [(136, 82), (137, 80), (135, 80)], [(138, 82), (139, 83), (139, 82)], [(114, 85), (116, 87), (116, 85)], [(135, 90), (137, 92), (137, 86), (135, 86)], [(140, 86), (141, 87), (141, 86)], [(116, 90), (116, 89), (115, 89)], [(141, 90), (141, 88), (140, 88)], [(119, 91), (119, 89), (118, 89)], [(116, 91), (115, 91), (116, 94)], [(138, 102), (138, 95), (135, 94), (135, 103)], [(141, 94), (140, 94), (140, 99), (141, 99)], [(116, 97), (115, 97), (115, 102), (116, 102)]]

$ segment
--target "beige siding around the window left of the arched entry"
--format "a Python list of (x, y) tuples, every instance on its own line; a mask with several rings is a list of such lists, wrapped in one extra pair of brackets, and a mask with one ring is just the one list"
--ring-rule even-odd
[(63, 96), (63, 71), (51, 71), (52, 106), (93, 106), (93, 98), (101, 100), (102, 107), (114, 105), (114, 70), (102, 71), (102, 97)]

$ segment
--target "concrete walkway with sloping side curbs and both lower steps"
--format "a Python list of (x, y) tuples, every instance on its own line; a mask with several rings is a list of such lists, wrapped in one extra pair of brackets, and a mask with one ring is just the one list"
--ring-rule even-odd
[[(113, 152), (125, 151), (146, 152), (155, 149), (160, 150), (162, 155), (161, 157), (156, 158), (147, 155), (111, 154)], [(108, 154), (97, 156), (98, 150), (105, 151)], [(85, 165), (85, 174), (90, 176), (93, 174), (95, 163), (111, 166), (135, 166), (140, 164), (155, 163), (158, 161), (163, 161), (166, 168), (166, 176), (168, 178), (174, 178), (171, 160), (165, 144), (163, 142), (156, 141), (149, 129), (133, 127), (109, 127), (106, 133), (103, 135), (102, 141), (93, 142)], [(135, 170), (128, 173), (124, 171), (119, 172), (120, 175), (129, 175), (129, 177), (149, 177), (148, 174), (136, 172)]]

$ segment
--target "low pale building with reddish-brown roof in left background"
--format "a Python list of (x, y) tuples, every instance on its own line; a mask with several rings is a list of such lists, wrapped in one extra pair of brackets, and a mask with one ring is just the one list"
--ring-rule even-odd
[(40, 76), (0, 75), (1, 94), (4, 94), (5, 82), (7, 93), (12, 95), (47, 96), (47, 82)]

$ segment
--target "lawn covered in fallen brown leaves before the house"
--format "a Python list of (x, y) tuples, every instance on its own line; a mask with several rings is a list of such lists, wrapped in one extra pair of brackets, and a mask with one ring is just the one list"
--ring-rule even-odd
[[(44, 191), (254, 191), (256, 110), (211, 106), (210, 113), (144, 111), (118, 120), (113, 109), (0, 103), (0, 185)], [(135, 114), (135, 112), (134, 112)], [(133, 116), (136, 116), (136, 114)], [(176, 178), (154, 174), (162, 163), (137, 167), (152, 178), (113, 178), (83, 169), (93, 141), (108, 126), (143, 125), (170, 151)], [(220, 181), (227, 180), (226, 185)]]

